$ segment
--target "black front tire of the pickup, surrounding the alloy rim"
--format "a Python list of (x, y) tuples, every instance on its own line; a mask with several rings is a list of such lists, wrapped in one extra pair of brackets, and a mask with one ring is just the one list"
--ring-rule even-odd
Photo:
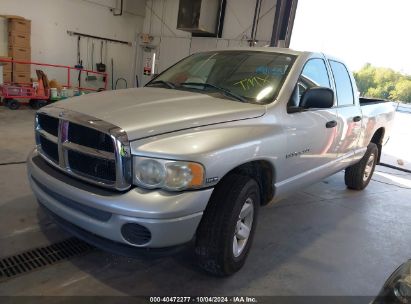
[[(243, 249), (235, 256), (234, 238), (241, 230), (240, 212), (246, 205), (253, 207), (253, 213), (247, 213), (248, 219), (252, 218), (251, 229), (245, 242), (235, 241), (238, 246), (243, 242)], [(232, 174), (216, 186), (197, 229), (195, 251), (201, 268), (216, 276), (228, 276), (241, 269), (253, 241), (259, 207), (260, 189), (247, 176)]]

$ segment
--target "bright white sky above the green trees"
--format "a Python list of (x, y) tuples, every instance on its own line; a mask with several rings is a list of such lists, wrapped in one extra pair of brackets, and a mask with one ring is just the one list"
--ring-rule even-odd
[(411, 75), (411, 0), (299, 0), (290, 47)]

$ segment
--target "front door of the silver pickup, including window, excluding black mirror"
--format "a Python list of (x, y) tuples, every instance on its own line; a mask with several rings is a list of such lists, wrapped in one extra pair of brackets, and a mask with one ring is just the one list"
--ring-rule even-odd
[[(314, 58), (307, 61), (298, 80), (294, 92), (294, 104), (304, 92), (312, 87), (331, 88), (325, 61)], [(287, 152), (285, 170), (287, 177), (297, 180), (310, 180), (306, 175), (323, 176), (328, 170), (327, 164), (336, 160), (336, 108), (312, 109), (304, 112), (288, 114), (285, 121), (287, 136)], [(286, 178), (287, 178), (286, 177)], [(322, 177), (319, 177), (322, 178)]]

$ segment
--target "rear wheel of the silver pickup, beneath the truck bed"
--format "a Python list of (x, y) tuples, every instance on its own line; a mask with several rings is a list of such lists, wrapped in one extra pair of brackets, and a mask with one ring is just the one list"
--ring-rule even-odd
[(361, 160), (355, 165), (352, 165), (345, 169), (344, 179), (345, 184), (349, 189), (363, 190), (368, 186), (374, 173), (375, 166), (378, 162), (378, 154), (379, 152), (377, 145), (370, 143), (363, 158), (361, 158)]

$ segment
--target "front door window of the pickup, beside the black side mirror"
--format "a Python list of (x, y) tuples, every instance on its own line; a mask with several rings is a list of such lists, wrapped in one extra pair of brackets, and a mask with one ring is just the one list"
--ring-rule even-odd
[(305, 64), (293, 95), (288, 103), (288, 108), (298, 107), (301, 96), (307, 89), (313, 87), (331, 88), (330, 79), (328, 77), (327, 68), (323, 59), (310, 59)]

